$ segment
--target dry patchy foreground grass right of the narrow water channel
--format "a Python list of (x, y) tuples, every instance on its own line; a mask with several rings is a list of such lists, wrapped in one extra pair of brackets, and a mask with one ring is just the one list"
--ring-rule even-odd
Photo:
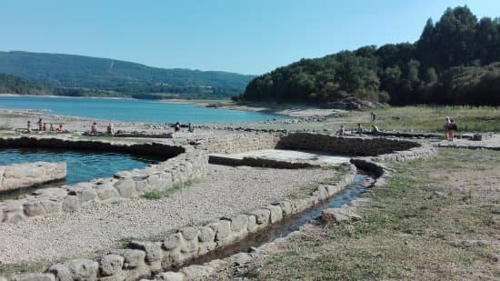
[[(500, 152), (392, 166), (352, 225), (315, 226), (249, 266), (259, 280), (500, 278)], [(493, 184), (495, 185), (495, 184)], [(480, 243), (477, 243), (479, 241)]]

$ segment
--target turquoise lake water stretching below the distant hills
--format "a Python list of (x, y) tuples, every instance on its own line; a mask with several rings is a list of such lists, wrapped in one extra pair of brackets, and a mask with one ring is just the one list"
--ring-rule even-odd
[(0, 96), (0, 108), (48, 110), (51, 115), (71, 115), (106, 120), (154, 123), (242, 123), (280, 118), (239, 110), (214, 109), (149, 100)]

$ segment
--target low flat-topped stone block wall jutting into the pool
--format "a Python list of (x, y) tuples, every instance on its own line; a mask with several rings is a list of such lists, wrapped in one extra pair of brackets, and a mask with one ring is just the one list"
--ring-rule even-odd
[(0, 166), (0, 192), (37, 186), (65, 177), (65, 162), (34, 162)]

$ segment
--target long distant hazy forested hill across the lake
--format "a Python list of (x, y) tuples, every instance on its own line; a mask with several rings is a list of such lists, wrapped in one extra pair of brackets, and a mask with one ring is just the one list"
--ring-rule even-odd
[(28, 52), (0, 52), (0, 73), (53, 88), (86, 88), (121, 94), (243, 93), (252, 75), (219, 71), (163, 69), (107, 58)]

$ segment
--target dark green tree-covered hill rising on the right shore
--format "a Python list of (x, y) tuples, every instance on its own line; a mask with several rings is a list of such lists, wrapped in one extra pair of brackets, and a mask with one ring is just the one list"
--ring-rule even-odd
[(368, 45), (256, 77), (239, 99), (500, 105), (500, 19), (466, 7), (427, 21), (413, 44)]

